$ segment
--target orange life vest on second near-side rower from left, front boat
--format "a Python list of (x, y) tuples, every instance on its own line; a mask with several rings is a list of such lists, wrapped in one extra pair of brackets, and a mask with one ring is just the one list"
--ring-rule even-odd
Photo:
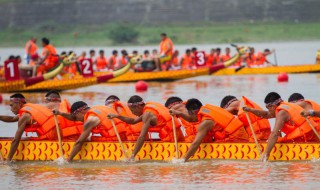
[[(117, 114), (113, 108), (107, 106), (93, 106), (84, 116), (84, 122), (88, 119), (89, 116), (96, 116), (100, 119), (100, 123), (97, 127), (92, 129), (93, 134), (100, 134), (101, 137), (92, 136), (91, 140), (93, 141), (116, 141), (116, 133), (113, 130), (111, 120), (107, 118), (108, 114)], [(121, 136), (122, 140), (126, 140), (126, 123), (123, 121), (114, 118), (113, 119), (118, 133)]]

